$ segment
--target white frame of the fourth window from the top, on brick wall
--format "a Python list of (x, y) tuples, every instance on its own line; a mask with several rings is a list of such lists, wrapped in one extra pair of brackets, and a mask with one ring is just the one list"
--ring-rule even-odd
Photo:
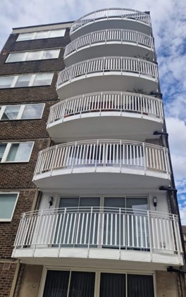
[[(32, 105), (43, 105), (42, 108), (42, 113), (40, 118), (21, 118), (23, 115), (23, 112), (25, 110), (26, 106), (32, 106)], [(4, 115), (4, 111), (6, 110), (6, 107), (10, 107), (10, 106), (20, 106), (20, 110), (18, 111), (18, 115), (16, 119), (12, 119), (12, 120), (39, 120), (42, 118), (43, 112), (44, 112), (44, 108), (45, 108), (45, 103), (30, 103), (30, 104), (15, 104), (15, 105), (4, 105), (4, 106), (0, 106), (0, 121), (9, 121), (9, 120), (1, 120), (2, 116)]]

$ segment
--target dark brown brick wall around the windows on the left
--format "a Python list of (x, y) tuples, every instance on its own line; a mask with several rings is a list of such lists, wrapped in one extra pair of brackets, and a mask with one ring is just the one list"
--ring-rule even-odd
[[(43, 30), (43, 29), (41, 29)], [(11, 34), (0, 54), (0, 75), (23, 75), (38, 72), (52, 72), (51, 86), (22, 87), (0, 89), (0, 106), (25, 103), (45, 103), (42, 119), (0, 121), (0, 142), (34, 141), (34, 147), (28, 163), (0, 163), (0, 192), (18, 191), (19, 197), (11, 222), (0, 222), (0, 296), (9, 296), (16, 271), (16, 263), (4, 269), (4, 263), (15, 261), (11, 258), (13, 242), (16, 237), (20, 215), (31, 210), (37, 189), (32, 183), (32, 176), (39, 151), (51, 143), (46, 132), (49, 108), (58, 102), (56, 94), (57, 74), (64, 68), (64, 46), (69, 42), (69, 29), (65, 37), (37, 39), (16, 42), (18, 34)], [(6, 63), (8, 53), (14, 51), (32, 51), (43, 49), (61, 49), (57, 59), (43, 61), (25, 61)], [(15, 291), (16, 292), (16, 291)]]

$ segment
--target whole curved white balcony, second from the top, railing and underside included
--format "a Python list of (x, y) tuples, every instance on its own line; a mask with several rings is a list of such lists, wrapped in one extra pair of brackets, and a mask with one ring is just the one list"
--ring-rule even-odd
[(154, 58), (154, 41), (147, 34), (132, 30), (101, 30), (83, 35), (66, 46), (64, 60), (66, 66), (90, 58), (105, 56)]

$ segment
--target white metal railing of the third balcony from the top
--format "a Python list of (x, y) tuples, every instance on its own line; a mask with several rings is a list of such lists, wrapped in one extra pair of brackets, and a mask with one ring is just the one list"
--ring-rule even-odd
[(76, 77), (89, 75), (92, 73), (106, 74), (106, 72), (125, 72), (137, 73), (138, 75), (146, 75), (158, 81), (158, 68), (156, 63), (145, 61), (139, 58), (128, 57), (101, 57), (87, 61), (82, 61), (65, 68), (58, 73), (56, 87), (60, 87), (65, 82), (70, 82)]

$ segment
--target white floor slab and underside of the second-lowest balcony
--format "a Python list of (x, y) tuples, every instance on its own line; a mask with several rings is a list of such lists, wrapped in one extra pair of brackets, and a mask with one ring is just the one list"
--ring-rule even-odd
[[(95, 172), (95, 170), (97, 172)], [(94, 187), (113, 190), (115, 189), (154, 189), (168, 187), (170, 177), (166, 173), (156, 170), (144, 170), (135, 168), (97, 167), (66, 168), (44, 172), (36, 175), (33, 182), (41, 189), (94, 189)]]

